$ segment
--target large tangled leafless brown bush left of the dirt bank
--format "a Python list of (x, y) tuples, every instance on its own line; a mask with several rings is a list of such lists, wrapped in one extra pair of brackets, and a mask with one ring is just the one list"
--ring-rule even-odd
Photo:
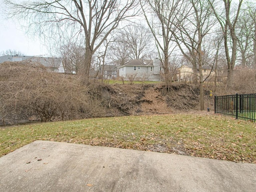
[(78, 75), (48, 72), (36, 63), (0, 64), (0, 120), (3, 124), (6, 118), (17, 116), (36, 115), (42, 122), (88, 118), (102, 113), (98, 103)]

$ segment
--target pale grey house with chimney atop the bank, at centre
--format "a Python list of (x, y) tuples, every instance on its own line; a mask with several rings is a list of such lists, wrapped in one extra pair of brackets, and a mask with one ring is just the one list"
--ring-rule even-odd
[(160, 81), (163, 72), (162, 63), (158, 58), (154, 60), (134, 59), (118, 67), (119, 77), (124, 80)]

